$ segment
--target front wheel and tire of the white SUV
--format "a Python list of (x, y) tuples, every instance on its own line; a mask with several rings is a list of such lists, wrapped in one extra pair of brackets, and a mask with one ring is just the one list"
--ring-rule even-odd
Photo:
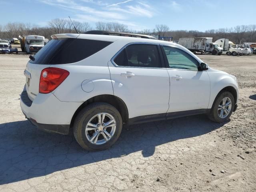
[(214, 122), (225, 122), (230, 118), (234, 106), (234, 96), (228, 91), (221, 92), (216, 97), (208, 117)]

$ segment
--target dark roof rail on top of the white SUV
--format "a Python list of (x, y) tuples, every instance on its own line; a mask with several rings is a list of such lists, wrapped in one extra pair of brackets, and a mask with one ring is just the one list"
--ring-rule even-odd
[(102, 31), (102, 30), (91, 30), (84, 34), (94, 34), (94, 35), (113, 35), (113, 36), (124, 36), (124, 37), (136, 37), (145, 39), (157, 39), (149, 35), (134, 34), (134, 33), (124, 33), (124, 32), (114, 32), (114, 31)]

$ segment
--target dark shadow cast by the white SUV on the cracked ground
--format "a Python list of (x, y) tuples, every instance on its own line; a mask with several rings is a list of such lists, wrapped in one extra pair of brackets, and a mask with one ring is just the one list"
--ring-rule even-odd
[(200, 136), (221, 126), (205, 115), (124, 126), (112, 148), (88, 152), (74, 137), (42, 132), (27, 120), (0, 124), (0, 185), (138, 151), (144, 157), (152, 156), (156, 146)]

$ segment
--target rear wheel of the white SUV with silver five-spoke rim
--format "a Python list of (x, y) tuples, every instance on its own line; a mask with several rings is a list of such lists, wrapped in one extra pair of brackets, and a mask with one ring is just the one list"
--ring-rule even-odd
[(104, 102), (89, 104), (74, 122), (74, 136), (80, 146), (90, 151), (110, 148), (122, 131), (122, 117), (112, 105)]

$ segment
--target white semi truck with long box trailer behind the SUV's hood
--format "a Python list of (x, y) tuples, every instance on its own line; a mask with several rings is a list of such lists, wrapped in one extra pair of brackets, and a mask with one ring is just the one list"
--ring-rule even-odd
[(223, 48), (218, 47), (218, 44), (212, 42), (211, 37), (179, 38), (178, 44), (194, 53), (200, 52), (201, 54), (211, 53), (213, 55), (221, 55), (223, 51)]

